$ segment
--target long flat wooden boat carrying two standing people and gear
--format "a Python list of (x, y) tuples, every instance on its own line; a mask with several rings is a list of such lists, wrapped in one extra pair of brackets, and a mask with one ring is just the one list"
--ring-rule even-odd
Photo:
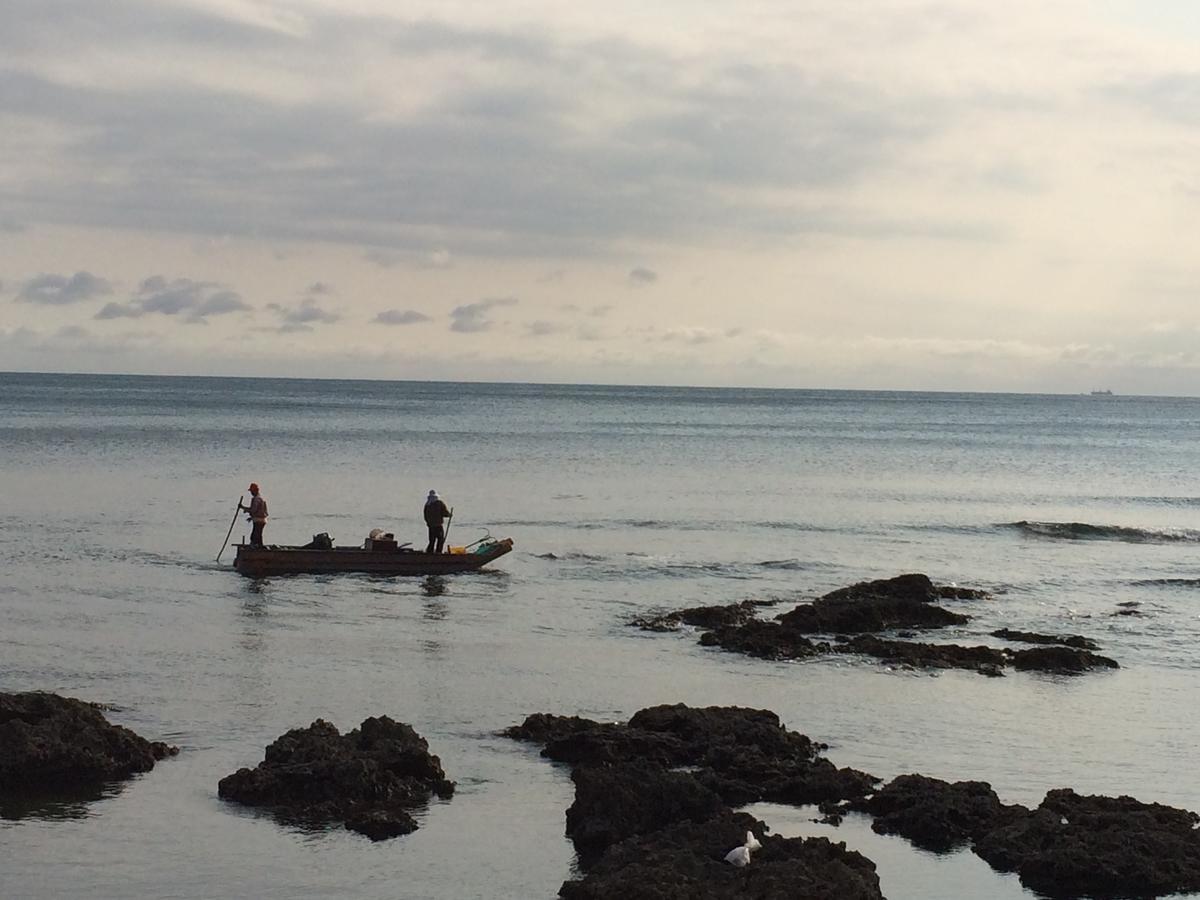
[[(395, 542), (392, 542), (394, 545)], [(512, 550), (512, 539), (488, 539), (462, 553), (422, 553), (409, 547), (252, 547), (234, 545), (233, 568), (250, 578), (269, 575), (452, 575), (480, 569)]]

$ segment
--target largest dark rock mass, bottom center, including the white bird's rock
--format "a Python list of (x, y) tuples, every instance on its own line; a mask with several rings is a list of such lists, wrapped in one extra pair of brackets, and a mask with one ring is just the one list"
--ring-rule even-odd
[[(572, 767), (566, 834), (584, 875), (559, 896), (882, 900), (875, 864), (845, 844), (767, 836), (764, 823), (732, 810), (757, 799), (862, 798), (878, 781), (838, 769), (820, 756), (824, 745), (769, 710), (680, 703), (626, 724), (539, 713), (502, 733), (544, 744), (542, 756)], [(725, 857), (746, 832), (761, 847), (736, 868)]]

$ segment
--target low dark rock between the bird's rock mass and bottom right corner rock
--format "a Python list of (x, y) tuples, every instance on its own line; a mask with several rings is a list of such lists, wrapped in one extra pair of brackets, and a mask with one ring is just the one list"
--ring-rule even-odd
[(950, 784), (924, 775), (900, 775), (851, 809), (869, 812), (880, 834), (899, 834), (918, 847), (944, 853), (1000, 824), (1028, 815), (1025, 806), (1006, 806), (984, 781)]

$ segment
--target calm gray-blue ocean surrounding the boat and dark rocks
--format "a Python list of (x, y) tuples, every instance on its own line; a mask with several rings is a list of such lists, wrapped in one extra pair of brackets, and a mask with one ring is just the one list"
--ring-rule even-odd
[[(667, 702), (772, 709), (884, 779), (1200, 810), (1198, 470), (1194, 398), (0, 374), (0, 690), (110, 704), (181, 749), (90, 799), (0, 808), (0, 896), (552, 898), (568, 772), (496, 732)], [(451, 544), (515, 550), (445, 578), (251, 581), (215, 558), (252, 480), (269, 542), (421, 544), (436, 488)], [(1081, 634), (1122, 667), (768, 662), (628, 624), (912, 571), (990, 592), (938, 640)], [(288, 728), (383, 714), (457, 782), (414, 834), (217, 798)], [(1033, 896), (854, 816), (750, 811), (860, 850), (890, 900)]]

